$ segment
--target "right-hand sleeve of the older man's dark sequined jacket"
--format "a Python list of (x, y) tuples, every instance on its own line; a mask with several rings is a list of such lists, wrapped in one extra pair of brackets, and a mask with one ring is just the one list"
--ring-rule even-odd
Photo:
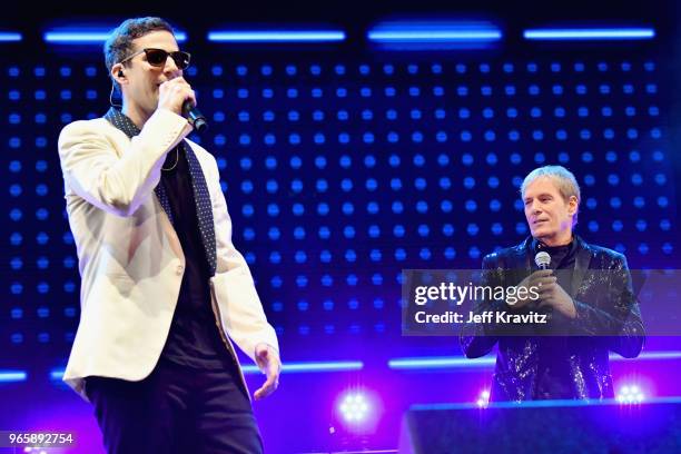
[(645, 330), (641, 310), (633, 290), (631, 274), (623, 255), (614, 257), (609, 274), (604, 304), (595, 307), (574, 300), (576, 317), (573, 332), (579, 335), (604, 336), (611, 351), (626, 358), (639, 356), (643, 348)]

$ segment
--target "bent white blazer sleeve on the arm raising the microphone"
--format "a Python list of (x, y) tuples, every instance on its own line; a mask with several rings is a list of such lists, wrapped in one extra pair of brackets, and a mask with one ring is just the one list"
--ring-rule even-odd
[(59, 160), (68, 187), (96, 207), (131, 216), (160, 180), (168, 150), (191, 130), (187, 120), (158, 109), (129, 147), (117, 150), (95, 121), (75, 121), (59, 135)]

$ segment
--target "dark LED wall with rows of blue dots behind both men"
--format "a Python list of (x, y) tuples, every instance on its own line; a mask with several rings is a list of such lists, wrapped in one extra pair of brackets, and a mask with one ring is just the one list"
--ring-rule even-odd
[[(520, 243), (517, 188), (536, 166), (576, 174), (586, 240), (633, 268), (678, 263), (670, 88), (652, 52), (187, 47), (210, 121), (194, 139), (217, 158), (234, 241), (290, 359), (356, 357), (357, 345), (408, 352), (417, 342), (399, 338), (401, 270), (476, 268)], [(59, 366), (69, 352), (79, 276), (57, 138), (106, 112), (107, 81), (99, 48), (10, 56), (1, 69), (7, 366), (27, 355)]]

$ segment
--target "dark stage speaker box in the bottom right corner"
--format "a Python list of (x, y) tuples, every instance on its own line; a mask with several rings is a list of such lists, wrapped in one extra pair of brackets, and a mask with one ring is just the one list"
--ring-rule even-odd
[(403, 418), (398, 452), (681, 453), (681, 398), (417, 405)]

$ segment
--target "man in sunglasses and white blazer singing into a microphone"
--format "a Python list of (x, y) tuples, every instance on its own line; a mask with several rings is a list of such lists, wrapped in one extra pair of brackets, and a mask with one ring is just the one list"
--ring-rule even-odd
[(63, 379), (95, 405), (109, 453), (263, 451), (231, 344), (278, 385), (280, 362), (215, 158), (185, 137), (189, 55), (159, 18), (105, 45), (121, 109), (59, 137), (81, 316)]

